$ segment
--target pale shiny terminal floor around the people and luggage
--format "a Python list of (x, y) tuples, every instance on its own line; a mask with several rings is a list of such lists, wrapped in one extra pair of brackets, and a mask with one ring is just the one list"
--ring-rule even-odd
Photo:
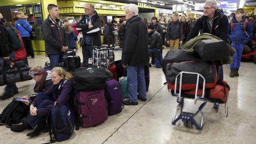
[[(168, 50), (163, 50), (164, 55)], [(78, 55), (82, 58), (81, 50)], [(115, 51), (115, 58), (121, 58), (121, 50)], [(45, 56), (28, 58), (30, 66), (44, 65)], [(125, 106), (121, 113), (109, 116), (108, 120), (96, 127), (81, 128), (64, 144), (256, 144), (256, 64), (242, 62), (239, 77), (230, 78), (229, 65), (224, 65), (224, 80), (230, 85), (228, 117), (225, 106), (218, 112), (212, 103), (207, 103), (204, 113), (203, 130), (185, 128), (180, 120), (174, 126), (171, 120), (177, 107), (176, 98), (164, 86), (165, 76), (161, 68), (150, 68), (150, 86), (147, 101), (139, 100), (137, 106)], [(34, 94), (35, 81), (18, 82), (19, 93), (14, 97)], [(4, 86), (0, 87), (0, 93)], [(0, 101), (0, 112), (12, 98)], [(198, 102), (200, 103), (200, 102)], [(198, 104), (197, 103), (197, 104)], [(191, 103), (190, 103), (191, 105)], [(194, 107), (193, 107), (194, 108)], [(188, 108), (189, 109), (189, 108)], [(194, 109), (193, 109), (194, 110)], [(24, 132), (12, 132), (0, 126), (1, 144), (40, 144), (49, 142), (48, 133), (27, 137)]]

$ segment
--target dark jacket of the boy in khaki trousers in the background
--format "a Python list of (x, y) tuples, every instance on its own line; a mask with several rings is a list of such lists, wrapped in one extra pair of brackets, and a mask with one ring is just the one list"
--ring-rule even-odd
[(183, 40), (183, 28), (181, 22), (169, 22), (166, 32), (166, 40)]

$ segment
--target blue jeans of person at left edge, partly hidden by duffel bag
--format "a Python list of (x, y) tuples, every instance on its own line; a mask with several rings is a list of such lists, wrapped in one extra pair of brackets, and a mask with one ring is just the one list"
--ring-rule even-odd
[[(14, 51), (9, 55), (9, 57), (11, 60), (14, 60)], [(4, 60), (4, 57), (0, 57), (0, 67), (2, 68), (4, 65), (10, 65), (11, 60)], [(6, 84), (6, 87), (4, 88), (4, 94), (13, 94), (17, 91), (18, 88), (16, 86), (16, 83)]]

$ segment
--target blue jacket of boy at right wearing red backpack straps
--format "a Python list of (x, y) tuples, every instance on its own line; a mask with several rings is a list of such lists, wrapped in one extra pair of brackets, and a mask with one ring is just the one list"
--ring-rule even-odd
[[(230, 23), (228, 24), (228, 37), (232, 41), (244, 41), (247, 44), (252, 38), (252, 25), (250, 22), (247, 23), (246, 32), (244, 31), (244, 16), (242, 17), (242, 22), (236, 20), (236, 16), (233, 16), (232, 21), (234, 22), (234, 28), (231, 32)], [(247, 34), (246, 34), (247, 33)]]

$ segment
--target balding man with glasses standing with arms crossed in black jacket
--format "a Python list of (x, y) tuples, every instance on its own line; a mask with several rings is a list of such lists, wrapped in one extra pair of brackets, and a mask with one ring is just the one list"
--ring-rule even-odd
[(92, 57), (92, 47), (101, 46), (101, 19), (94, 10), (94, 5), (90, 3), (86, 4), (84, 11), (85, 15), (82, 15), (82, 19), (76, 24), (76, 30), (83, 34), (82, 54), (83, 64), (86, 64), (88, 59)]

